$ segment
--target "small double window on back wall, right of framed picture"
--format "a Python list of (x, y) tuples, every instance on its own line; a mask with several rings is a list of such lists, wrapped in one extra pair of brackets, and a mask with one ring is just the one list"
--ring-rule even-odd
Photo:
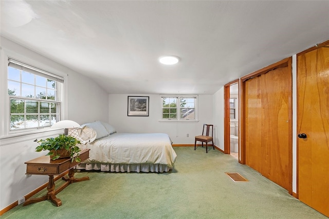
[(196, 96), (162, 96), (162, 120), (196, 120)]

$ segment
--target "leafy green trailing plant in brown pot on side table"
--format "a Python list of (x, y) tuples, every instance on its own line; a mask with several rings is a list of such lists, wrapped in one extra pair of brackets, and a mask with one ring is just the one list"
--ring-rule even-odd
[(75, 160), (81, 162), (79, 152), (81, 149), (77, 146), (80, 141), (70, 135), (61, 134), (56, 138), (46, 138), (37, 141), (40, 145), (35, 148), (36, 152), (49, 151), (48, 154), (52, 160), (58, 158), (70, 157), (72, 162)]

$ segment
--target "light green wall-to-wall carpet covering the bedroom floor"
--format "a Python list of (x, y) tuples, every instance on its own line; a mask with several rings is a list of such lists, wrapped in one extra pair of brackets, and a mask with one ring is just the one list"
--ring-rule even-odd
[[(62, 206), (49, 200), (20, 205), (1, 218), (327, 218), (230, 155), (206, 154), (202, 147), (174, 150), (169, 173), (76, 173), (90, 180), (57, 194)], [(249, 181), (234, 182), (225, 172)]]

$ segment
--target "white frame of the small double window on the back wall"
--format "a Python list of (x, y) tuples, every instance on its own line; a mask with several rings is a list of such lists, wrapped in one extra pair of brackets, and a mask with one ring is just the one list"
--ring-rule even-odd
[[(176, 99), (176, 115), (177, 118), (163, 118), (163, 98), (174, 98)], [(185, 98), (194, 98), (194, 119), (192, 118), (180, 118), (180, 99)], [(159, 121), (172, 121), (172, 122), (195, 122), (198, 121), (198, 96), (197, 95), (161, 95), (160, 97), (161, 102), (161, 115)], [(182, 107), (187, 108), (187, 107)]]

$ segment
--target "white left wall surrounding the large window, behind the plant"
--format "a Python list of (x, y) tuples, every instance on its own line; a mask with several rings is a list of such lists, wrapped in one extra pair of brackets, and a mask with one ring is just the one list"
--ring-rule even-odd
[[(8, 39), (1, 38), (0, 43), (0, 63), (5, 63), (4, 59), (10, 54), (16, 59), (66, 77), (64, 87), (68, 89), (68, 94), (65, 119), (80, 124), (87, 121), (108, 120), (108, 95), (95, 82)], [(6, 78), (6, 69), (6, 66), (0, 68), (2, 80)], [(2, 81), (1, 84), (1, 92), (7, 92), (3, 89), (7, 87), (3, 86), (6, 82)], [(3, 104), (6, 95), (2, 93), (0, 96)], [(4, 113), (3, 108), (0, 113)], [(58, 133), (61, 131), (48, 130), (21, 137), (0, 138), (0, 209), (4, 209), (48, 181), (48, 176), (25, 175), (24, 162), (46, 153), (34, 151), (37, 146), (33, 141), (35, 138), (56, 136)]]

